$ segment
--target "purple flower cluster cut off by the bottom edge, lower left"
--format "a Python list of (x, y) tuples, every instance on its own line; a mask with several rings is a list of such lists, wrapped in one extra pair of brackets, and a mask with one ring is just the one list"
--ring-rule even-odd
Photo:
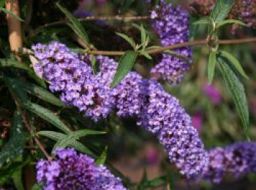
[(52, 161), (37, 162), (37, 182), (44, 183), (45, 190), (126, 189), (105, 166), (74, 149), (56, 149)]

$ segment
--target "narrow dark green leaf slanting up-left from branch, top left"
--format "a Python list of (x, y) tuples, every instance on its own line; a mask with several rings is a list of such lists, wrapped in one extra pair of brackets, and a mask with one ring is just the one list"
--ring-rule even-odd
[(63, 12), (68, 17), (70, 21), (70, 24), (68, 24), (69, 27), (72, 28), (72, 30), (80, 37), (80, 39), (82, 39), (87, 47), (90, 47), (89, 38), (83, 28), (83, 25), (81, 25), (78, 19), (74, 17), (66, 8), (62, 7), (61, 4), (57, 3), (56, 5), (59, 7), (59, 9), (61, 9), (61, 12)]

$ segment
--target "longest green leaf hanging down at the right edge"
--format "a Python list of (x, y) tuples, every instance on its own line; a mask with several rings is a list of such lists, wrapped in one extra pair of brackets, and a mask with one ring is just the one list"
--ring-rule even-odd
[(220, 70), (224, 76), (227, 87), (230, 90), (230, 94), (235, 102), (238, 115), (241, 118), (241, 122), (244, 126), (244, 132), (246, 138), (249, 138), (248, 128), (249, 128), (249, 111), (246, 100), (246, 94), (244, 92), (244, 85), (239, 81), (236, 74), (233, 73), (232, 69), (225, 63), (221, 57), (218, 58)]

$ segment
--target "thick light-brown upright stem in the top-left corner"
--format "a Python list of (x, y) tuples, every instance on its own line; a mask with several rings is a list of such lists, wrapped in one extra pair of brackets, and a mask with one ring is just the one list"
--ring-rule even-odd
[[(6, 0), (5, 8), (8, 11), (13, 12), (13, 14), (20, 16), (20, 7), (18, 0)], [(9, 31), (9, 42), (10, 48), (12, 51), (18, 50), (22, 47), (22, 34), (21, 34), (21, 25), (20, 20), (15, 18), (14, 16), (7, 14), (7, 23), (8, 23), (8, 31)]]

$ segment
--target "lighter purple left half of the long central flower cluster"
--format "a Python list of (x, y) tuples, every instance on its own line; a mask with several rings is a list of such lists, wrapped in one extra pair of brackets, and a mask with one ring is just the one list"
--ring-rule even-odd
[(78, 107), (95, 121), (108, 116), (114, 100), (108, 78), (113, 74), (105, 71), (116, 67), (113, 60), (99, 56), (102, 71), (94, 75), (89, 58), (71, 52), (64, 44), (55, 41), (34, 45), (32, 49), (39, 60), (34, 66), (36, 73), (50, 82), (52, 92), (61, 92), (64, 103)]

